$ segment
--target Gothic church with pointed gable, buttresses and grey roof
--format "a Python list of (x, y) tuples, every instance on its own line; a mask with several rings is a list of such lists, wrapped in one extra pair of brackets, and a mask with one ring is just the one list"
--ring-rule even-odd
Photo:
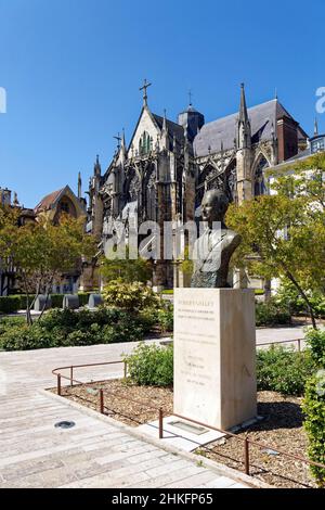
[(308, 136), (277, 99), (247, 109), (244, 85), (238, 113), (207, 124), (192, 104), (179, 114), (178, 123), (166, 113), (156, 115), (147, 104), (147, 86), (142, 88), (143, 107), (130, 143), (125, 135), (118, 137), (104, 173), (96, 158), (87, 229), (104, 246), (116, 237), (120, 222), (128, 229), (157, 222), (160, 257), (153, 260), (153, 284), (181, 286), (186, 282), (178, 260), (164, 259), (164, 222), (199, 218), (200, 201), (209, 189), (223, 189), (239, 204), (268, 193), (265, 169), (299, 154)]

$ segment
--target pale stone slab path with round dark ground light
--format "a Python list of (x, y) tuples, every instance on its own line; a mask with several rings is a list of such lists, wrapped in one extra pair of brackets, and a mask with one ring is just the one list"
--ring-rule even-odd
[[(55, 385), (51, 371), (56, 367), (117, 360), (132, 348), (134, 343), (0, 353), (0, 488), (250, 485), (250, 479), (233, 470), (164, 447), (43, 392)], [(121, 365), (110, 365), (92, 372), (80, 369), (75, 377), (99, 380), (121, 373)], [(55, 428), (62, 420), (76, 424)]]

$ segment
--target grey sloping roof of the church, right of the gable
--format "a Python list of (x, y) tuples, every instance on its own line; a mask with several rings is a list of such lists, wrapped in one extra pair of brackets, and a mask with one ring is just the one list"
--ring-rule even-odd
[[(283, 116), (294, 118), (277, 99), (248, 109), (252, 143), (260, 140), (271, 140), (272, 124), (275, 130), (277, 119)], [(238, 113), (234, 113), (205, 124), (194, 139), (194, 148), (197, 156), (207, 156), (209, 154), (209, 148), (211, 153), (220, 152), (221, 142), (223, 143), (224, 150), (233, 149), (234, 139), (237, 133), (237, 119)], [(298, 127), (298, 137), (299, 139), (307, 138), (306, 132), (300, 127)]]

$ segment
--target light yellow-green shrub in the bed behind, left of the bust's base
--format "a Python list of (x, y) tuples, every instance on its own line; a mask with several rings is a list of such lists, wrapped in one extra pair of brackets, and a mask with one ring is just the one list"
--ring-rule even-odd
[(116, 306), (130, 311), (157, 307), (160, 304), (159, 297), (143, 283), (125, 283), (118, 280), (112, 281), (105, 286), (103, 298), (108, 306)]

